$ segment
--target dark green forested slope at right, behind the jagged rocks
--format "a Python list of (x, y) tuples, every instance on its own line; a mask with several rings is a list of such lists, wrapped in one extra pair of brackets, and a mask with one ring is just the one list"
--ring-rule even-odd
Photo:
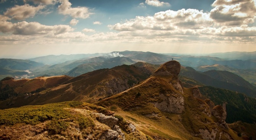
[(227, 103), (227, 123), (243, 121), (250, 124), (256, 122), (256, 99), (238, 92), (210, 86), (198, 87), (205, 98), (211, 99), (215, 105)]

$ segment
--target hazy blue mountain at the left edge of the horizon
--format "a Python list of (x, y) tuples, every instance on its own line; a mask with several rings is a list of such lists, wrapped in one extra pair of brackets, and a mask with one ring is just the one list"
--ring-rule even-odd
[(44, 66), (42, 63), (37, 63), (30, 60), (19, 59), (0, 59), (0, 67), (5, 69), (28, 70), (36, 67)]

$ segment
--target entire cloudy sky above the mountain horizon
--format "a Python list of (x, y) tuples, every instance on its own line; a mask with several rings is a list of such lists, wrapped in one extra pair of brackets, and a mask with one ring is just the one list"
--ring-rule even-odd
[(256, 51), (256, 0), (0, 0), (0, 58)]

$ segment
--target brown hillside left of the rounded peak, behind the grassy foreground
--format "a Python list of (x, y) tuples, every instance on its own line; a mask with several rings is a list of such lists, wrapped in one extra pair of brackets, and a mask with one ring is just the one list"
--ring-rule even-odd
[[(0, 101), (0, 109), (19, 107), (24, 105), (44, 105), (47, 103), (57, 103), (72, 100), (93, 103), (102, 98), (115, 95), (119, 92), (123, 92), (124, 90), (129, 89), (130, 87), (133, 87), (139, 82), (147, 79), (153, 71), (154, 65), (147, 63), (143, 63), (140, 67), (136, 67), (134, 65), (122, 65), (112, 69), (99, 69), (78, 77), (70, 77), (69, 79), (65, 80), (63, 79), (61, 82), (62, 84), (59, 83), (58, 85), (52, 87), (42, 87), (44, 82), (43, 80), (40, 80), (40, 78), (31, 79), (30, 81), (38, 81), (41, 82), (41, 84), (38, 83), (38, 85), (33, 87), (34, 89), (29, 89), (29, 91), (37, 91), (33, 92), (34, 94), (26, 99), (24, 99), (26, 97), (25, 95), (19, 94), (23, 96), (17, 97), (18, 95), (16, 95), (16, 93), (19, 92), (9, 90), (18, 89), (18, 87), (16, 89), (12, 84), (9, 84), (9, 89), (3, 89), (3, 93), (9, 93), (10, 95), (15, 94), (12, 95), (12, 97), (16, 98)], [(23, 83), (25, 83), (26, 79), (15, 81), (23, 81)], [(34, 82), (33, 84), (35, 85), (36, 83)], [(26, 85), (23, 87), (29, 86)], [(26, 88), (19, 88), (26, 91)]]

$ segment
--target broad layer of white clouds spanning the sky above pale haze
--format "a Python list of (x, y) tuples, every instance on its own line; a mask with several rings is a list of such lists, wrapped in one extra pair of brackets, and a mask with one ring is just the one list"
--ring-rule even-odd
[[(152, 16), (136, 16), (108, 25), (107, 32), (97, 32), (95, 29), (76, 26), (90, 17), (87, 7), (72, 7), (68, 0), (24, 0), (33, 2), (15, 5), (0, 15), (0, 44), (8, 43), (77, 43), (77, 42), (105, 42), (105, 43), (256, 43), (256, 2), (254, 0), (215, 0), (212, 10), (205, 12), (196, 9), (166, 10)], [(170, 3), (159, 0), (146, 0), (151, 6), (170, 6)], [(38, 22), (22, 21), (32, 18), (47, 9), (47, 6), (57, 5), (58, 14), (71, 18), (69, 25), (44, 25)], [(97, 14), (97, 13), (96, 13)], [(16, 23), (11, 22), (16, 19)], [(79, 19), (79, 20), (78, 20)], [(93, 20), (93, 19), (92, 19)], [(103, 20), (100, 20), (103, 21)], [(103, 27), (100, 21), (90, 21)], [(78, 24), (79, 23), (79, 24)], [(74, 28), (73, 28), (74, 26)], [(95, 25), (92, 25), (92, 27)], [(86, 35), (92, 34), (92, 35)]]

